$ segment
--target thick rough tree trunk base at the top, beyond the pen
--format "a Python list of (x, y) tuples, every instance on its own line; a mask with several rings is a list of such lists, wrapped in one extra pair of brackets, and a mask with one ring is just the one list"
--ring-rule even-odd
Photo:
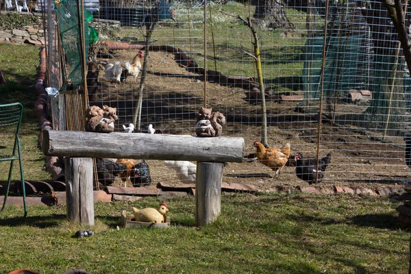
[(251, 5), (256, 5), (253, 18), (258, 21), (260, 27), (295, 29), (295, 25), (288, 20), (283, 0), (251, 0)]

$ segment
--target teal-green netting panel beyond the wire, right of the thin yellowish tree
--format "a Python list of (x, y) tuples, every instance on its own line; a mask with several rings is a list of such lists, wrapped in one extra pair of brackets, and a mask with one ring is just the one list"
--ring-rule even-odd
[[(365, 88), (369, 84), (369, 66), (364, 44), (365, 35), (331, 37), (327, 41), (324, 69), (324, 95), (329, 92), (348, 92), (350, 88)], [(303, 67), (303, 88), (306, 98), (319, 98), (324, 38), (308, 38), (306, 61)]]

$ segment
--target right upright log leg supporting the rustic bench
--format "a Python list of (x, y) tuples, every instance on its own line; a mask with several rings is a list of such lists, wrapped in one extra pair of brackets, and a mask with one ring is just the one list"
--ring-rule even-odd
[(216, 221), (221, 213), (223, 162), (197, 162), (195, 182), (195, 223), (201, 227)]

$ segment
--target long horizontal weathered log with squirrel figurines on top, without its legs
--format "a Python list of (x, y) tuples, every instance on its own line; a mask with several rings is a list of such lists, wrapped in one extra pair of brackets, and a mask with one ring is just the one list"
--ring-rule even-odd
[(49, 156), (242, 162), (244, 139), (49, 129), (43, 131), (42, 149)]

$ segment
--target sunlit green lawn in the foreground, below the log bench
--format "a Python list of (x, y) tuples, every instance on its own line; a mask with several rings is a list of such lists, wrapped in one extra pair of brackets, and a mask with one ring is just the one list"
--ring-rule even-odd
[(121, 210), (158, 200), (95, 204), (95, 236), (73, 238), (65, 206), (0, 214), (0, 273), (406, 273), (409, 234), (397, 201), (352, 195), (224, 194), (221, 216), (195, 227), (194, 197), (168, 203), (170, 229), (120, 229)]

